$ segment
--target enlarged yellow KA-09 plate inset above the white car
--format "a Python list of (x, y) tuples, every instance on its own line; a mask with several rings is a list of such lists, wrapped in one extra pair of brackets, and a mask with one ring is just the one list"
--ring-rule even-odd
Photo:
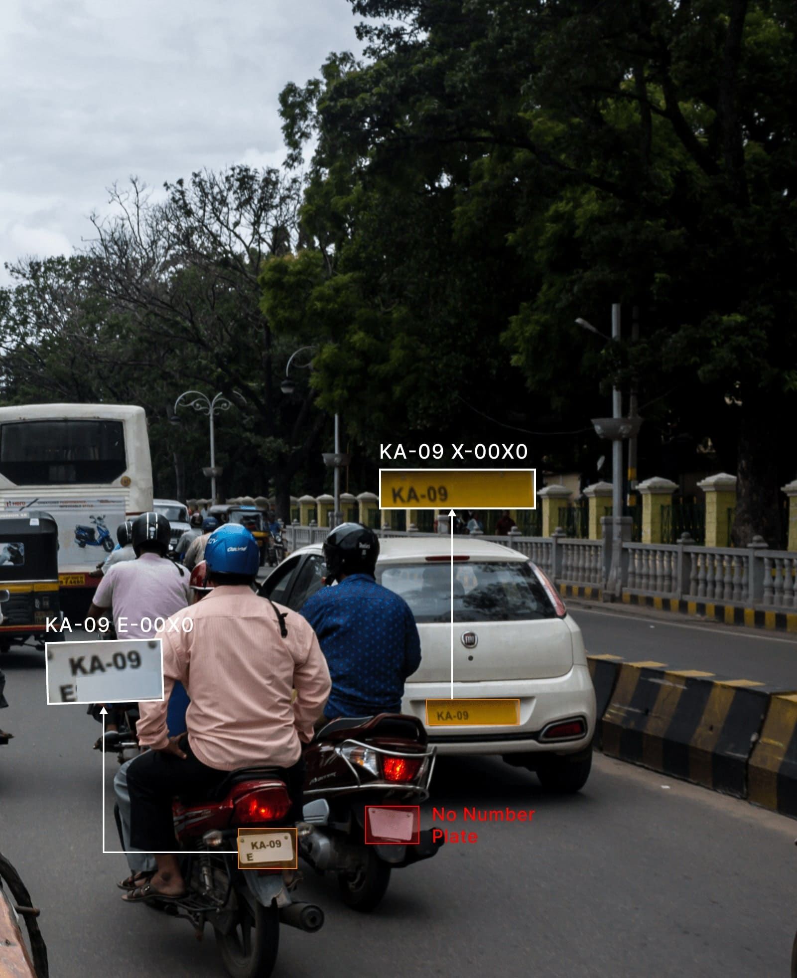
[(380, 468), (380, 510), (533, 510), (533, 468)]

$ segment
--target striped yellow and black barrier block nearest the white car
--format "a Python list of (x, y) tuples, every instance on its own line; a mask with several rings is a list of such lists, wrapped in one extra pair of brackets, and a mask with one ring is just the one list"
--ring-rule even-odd
[(657, 662), (623, 662), (601, 721), (602, 749), (739, 798), (772, 688)]

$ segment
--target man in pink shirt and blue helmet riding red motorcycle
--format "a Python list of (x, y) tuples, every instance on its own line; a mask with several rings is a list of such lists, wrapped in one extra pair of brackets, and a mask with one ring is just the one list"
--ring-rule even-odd
[[(127, 894), (131, 903), (185, 892), (171, 815), (174, 795), (210, 791), (239, 768), (278, 767), (285, 769), (293, 801), (288, 821), (301, 817), (301, 744), (312, 739), (332, 689), (312, 628), (252, 591), (259, 552), (251, 533), (238, 524), (221, 527), (207, 542), (205, 560), (214, 589), (157, 634), (164, 698), (140, 704), (139, 742), (151, 749), (127, 771), (130, 844), (155, 853), (157, 870), (149, 883)], [(188, 734), (169, 739), (166, 710), (177, 681), (191, 697)]]

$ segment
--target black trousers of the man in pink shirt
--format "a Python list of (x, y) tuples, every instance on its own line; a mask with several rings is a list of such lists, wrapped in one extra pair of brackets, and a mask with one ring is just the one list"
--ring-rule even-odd
[[(188, 755), (185, 759), (164, 751), (148, 750), (137, 757), (127, 769), (127, 788), (130, 792), (130, 845), (145, 852), (179, 852), (174, 836), (171, 803), (177, 795), (190, 796), (194, 801), (212, 792), (229, 771), (208, 768), (195, 756), (188, 737), (180, 746)], [(293, 807), (286, 824), (301, 819), (304, 762), (300, 759), (292, 768), (283, 769), (283, 779)]]

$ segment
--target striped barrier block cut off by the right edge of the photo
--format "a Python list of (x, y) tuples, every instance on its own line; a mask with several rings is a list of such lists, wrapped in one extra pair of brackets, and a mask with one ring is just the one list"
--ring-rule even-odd
[(751, 802), (797, 818), (797, 693), (772, 697), (748, 782)]

